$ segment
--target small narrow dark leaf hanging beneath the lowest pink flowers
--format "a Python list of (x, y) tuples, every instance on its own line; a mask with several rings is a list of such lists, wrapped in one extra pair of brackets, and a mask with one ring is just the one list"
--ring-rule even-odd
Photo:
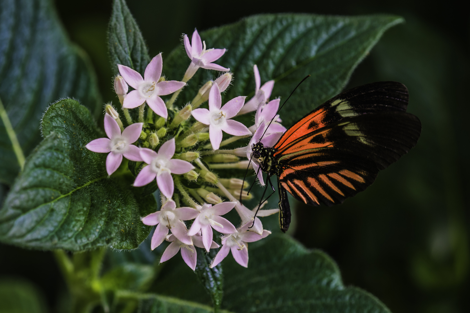
[(195, 248), (197, 251), (196, 276), (211, 297), (214, 309), (217, 310), (222, 303), (222, 297), (224, 295), (222, 264), (219, 264), (214, 268), (210, 268), (211, 260), (215, 258), (217, 252), (212, 249), (208, 254), (206, 254), (204, 249), (198, 247)]

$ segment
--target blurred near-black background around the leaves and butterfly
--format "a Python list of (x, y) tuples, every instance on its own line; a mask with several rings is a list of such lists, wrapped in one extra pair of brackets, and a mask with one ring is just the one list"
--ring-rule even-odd
[[(354, 2), (354, 3), (352, 3)], [(470, 312), (469, 12), (463, 1), (128, 1), (150, 55), (181, 33), (259, 13), (397, 14), (347, 87), (397, 80), (423, 123), (415, 149), (343, 205), (297, 205), (293, 236), (337, 261), (346, 285), (373, 293), (392, 312)], [(110, 0), (56, 1), (71, 40), (90, 55), (104, 101), (114, 100), (107, 58)], [(274, 96), (276, 96), (274, 94)], [(292, 104), (291, 104), (292, 105)], [(50, 252), (1, 245), (0, 275), (34, 282), (49, 307), (65, 284)]]

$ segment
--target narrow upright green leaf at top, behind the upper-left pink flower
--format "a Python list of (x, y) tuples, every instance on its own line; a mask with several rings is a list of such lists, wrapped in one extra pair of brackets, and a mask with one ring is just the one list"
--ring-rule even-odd
[(108, 27), (108, 51), (115, 73), (118, 73), (118, 64), (122, 64), (143, 74), (150, 62), (139, 26), (125, 0), (114, 0)]

